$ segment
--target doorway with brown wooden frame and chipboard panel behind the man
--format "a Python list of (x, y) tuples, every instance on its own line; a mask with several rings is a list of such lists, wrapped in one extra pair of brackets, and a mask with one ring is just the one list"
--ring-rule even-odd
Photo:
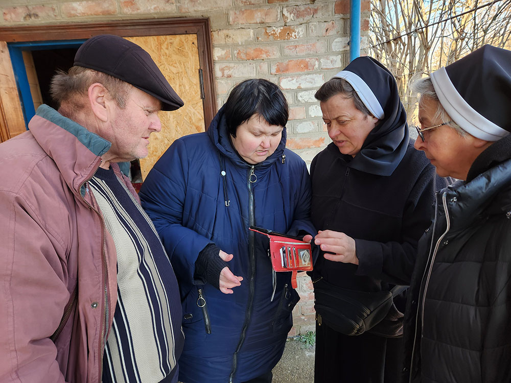
[[(66, 70), (62, 66), (68, 65), (78, 46), (99, 34), (115, 34), (141, 45), (185, 103), (177, 111), (160, 114), (164, 128), (151, 140), (149, 156), (140, 161), (144, 178), (174, 139), (204, 131), (216, 113), (207, 18), (0, 28), (0, 141), (26, 130), (38, 103), (51, 102), (47, 84), (55, 68)], [(30, 84), (29, 77), (37, 84)]]

